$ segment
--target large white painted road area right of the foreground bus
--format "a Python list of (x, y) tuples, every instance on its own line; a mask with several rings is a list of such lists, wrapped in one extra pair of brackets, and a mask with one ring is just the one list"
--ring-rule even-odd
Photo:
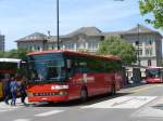
[(156, 96), (122, 96), (105, 102), (84, 106), (80, 108), (122, 108), (122, 109), (136, 109), (145, 104), (155, 99)]

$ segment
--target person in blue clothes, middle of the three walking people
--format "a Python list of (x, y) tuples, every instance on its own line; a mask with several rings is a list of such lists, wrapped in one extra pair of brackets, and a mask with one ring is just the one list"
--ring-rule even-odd
[(10, 82), (10, 91), (11, 91), (11, 106), (15, 106), (15, 102), (16, 102), (16, 96), (17, 96), (17, 81), (16, 78), (12, 77), (11, 78), (11, 82)]

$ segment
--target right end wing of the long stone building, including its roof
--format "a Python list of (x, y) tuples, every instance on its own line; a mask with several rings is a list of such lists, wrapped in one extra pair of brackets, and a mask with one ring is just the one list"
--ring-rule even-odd
[(162, 65), (162, 36), (159, 32), (137, 26), (122, 33), (122, 38), (135, 46), (140, 65)]

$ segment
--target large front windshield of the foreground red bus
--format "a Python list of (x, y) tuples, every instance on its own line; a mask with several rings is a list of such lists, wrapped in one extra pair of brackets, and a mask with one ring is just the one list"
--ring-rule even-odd
[(30, 82), (61, 82), (65, 80), (65, 66), (62, 54), (40, 54), (28, 57)]

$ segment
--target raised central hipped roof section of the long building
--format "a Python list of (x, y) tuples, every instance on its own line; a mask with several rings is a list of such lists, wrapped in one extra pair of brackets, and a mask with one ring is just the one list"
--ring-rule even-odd
[(82, 28), (66, 35), (65, 38), (73, 37), (73, 36), (79, 35), (79, 33), (87, 35), (87, 36), (102, 36), (102, 31), (100, 29), (98, 29), (97, 27), (82, 27)]

